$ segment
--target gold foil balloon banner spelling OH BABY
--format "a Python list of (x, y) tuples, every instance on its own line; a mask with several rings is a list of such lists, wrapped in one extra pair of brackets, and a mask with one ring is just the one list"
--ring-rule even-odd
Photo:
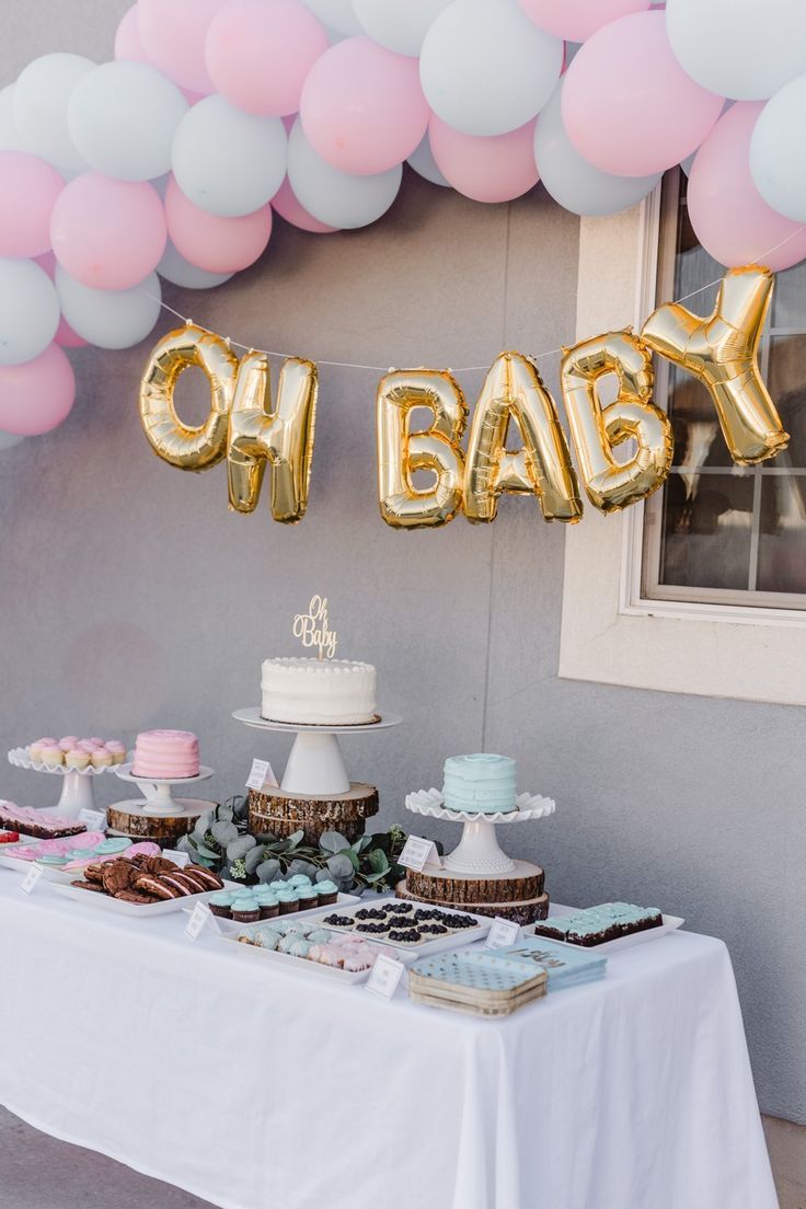
[[(637, 336), (610, 331), (563, 351), (561, 382), (579, 476), (557, 406), (538, 368), (522, 353), (501, 353), (481, 389), (466, 451), (462, 439), (468, 406), (447, 370), (393, 370), (378, 384), (378, 502), (395, 528), (445, 525), (464, 511), (469, 521), (495, 519), (501, 492), (533, 494), (544, 519), (575, 522), (582, 515), (581, 479), (590, 502), (604, 513), (645, 499), (666, 480), (673, 439), (668, 416), (651, 401), (651, 355), (659, 353), (697, 377), (717, 410), (732, 459), (752, 465), (773, 457), (789, 440), (761, 381), (758, 345), (772, 297), (766, 268), (730, 270), (707, 318), (679, 302), (660, 306)], [(189, 427), (176, 415), (174, 387), (191, 365), (210, 383), (210, 411)], [(615, 375), (619, 393), (603, 406), (599, 383)], [(271, 467), (276, 521), (298, 521), (308, 504), (318, 374), (313, 361), (289, 357), (272, 400), (268, 358), (240, 360), (227, 341), (193, 324), (156, 346), (140, 388), (145, 434), (166, 462), (181, 470), (207, 470), (226, 458), (230, 504), (257, 507)], [(412, 412), (431, 412), (430, 427), (411, 430)], [(506, 449), (510, 423), (521, 447)], [(617, 461), (615, 449), (632, 439), (636, 451)], [(414, 486), (430, 470), (428, 487)]]

